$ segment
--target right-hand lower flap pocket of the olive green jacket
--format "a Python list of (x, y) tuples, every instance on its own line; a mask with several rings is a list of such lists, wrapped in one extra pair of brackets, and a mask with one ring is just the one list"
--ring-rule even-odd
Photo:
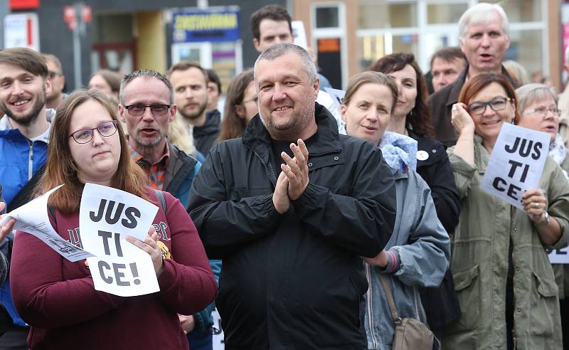
[(559, 329), (560, 314), (558, 287), (554, 280), (532, 272), (535, 287), (531, 290), (530, 332), (534, 335), (552, 336)]

